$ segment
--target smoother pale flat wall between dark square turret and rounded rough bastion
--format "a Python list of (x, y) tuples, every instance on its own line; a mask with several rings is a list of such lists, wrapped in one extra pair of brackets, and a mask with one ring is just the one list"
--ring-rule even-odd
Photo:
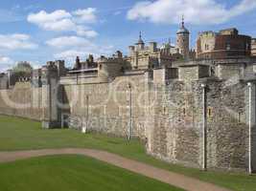
[(68, 106), (65, 114), (82, 119), (83, 123), (88, 118), (88, 131), (128, 137), (128, 83), (131, 85), (133, 136), (145, 138), (145, 99), (138, 98), (145, 91), (144, 74), (116, 77), (111, 83), (63, 85), (64, 102)]

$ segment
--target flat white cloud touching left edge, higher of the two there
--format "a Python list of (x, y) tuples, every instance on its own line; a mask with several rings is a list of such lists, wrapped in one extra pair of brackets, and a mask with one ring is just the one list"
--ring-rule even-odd
[(27, 34), (0, 34), (0, 49), (33, 50), (36, 48), (37, 45), (31, 41), (30, 36)]

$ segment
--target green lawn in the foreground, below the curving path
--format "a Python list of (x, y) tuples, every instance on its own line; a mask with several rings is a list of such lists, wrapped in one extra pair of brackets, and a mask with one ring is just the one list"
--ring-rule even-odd
[(0, 164), (0, 190), (18, 191), (182, 191), (105, 162), (54, 156)]

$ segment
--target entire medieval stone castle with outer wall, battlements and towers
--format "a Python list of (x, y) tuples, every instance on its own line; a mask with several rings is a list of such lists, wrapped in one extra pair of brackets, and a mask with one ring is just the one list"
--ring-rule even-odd
[(195, 59), (184, 21), (176, 35), (175, 47), (158, 47), (140, 34), (128, 56), (78, 57), (71, 70), (48, 62), (31, 81), (3, 86), (0, 114), (41, 120), (43, 128), (140, 138), (155, 158), (204, 170), (255, 171), (250, 37), (235, 29), (202, 32)]

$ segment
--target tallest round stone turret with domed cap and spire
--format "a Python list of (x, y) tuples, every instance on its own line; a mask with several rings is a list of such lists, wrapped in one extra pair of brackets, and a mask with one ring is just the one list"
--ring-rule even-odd
[(190, 32), (185, 28), (184, 17), (179, 30), (176, 32), (176, 48), (184, 59), (189, 59), (189, 35)]

